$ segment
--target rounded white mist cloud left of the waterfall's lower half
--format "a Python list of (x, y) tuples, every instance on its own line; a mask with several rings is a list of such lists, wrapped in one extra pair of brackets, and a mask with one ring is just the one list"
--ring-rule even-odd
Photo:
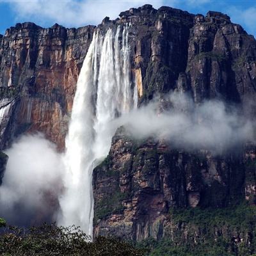
[(61, 155), (42, 134), (25, 135), (5, 150), (9, 156), (0, 186), (0, 216), (9, 225), (54, 221), (61, 193)]

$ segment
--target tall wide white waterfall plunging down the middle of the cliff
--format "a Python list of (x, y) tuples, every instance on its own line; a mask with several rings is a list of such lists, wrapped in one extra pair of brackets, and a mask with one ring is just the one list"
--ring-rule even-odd
[[(129, 25), (97, 31), (83, 62), (66, 138), (65, 193), (59, 224), (93, 232), (92, 171), (106, 157), (113, 132), (109, 122), (137, 104), (132, 92)], [(97, 161), (98, 160), (98, 161)]]

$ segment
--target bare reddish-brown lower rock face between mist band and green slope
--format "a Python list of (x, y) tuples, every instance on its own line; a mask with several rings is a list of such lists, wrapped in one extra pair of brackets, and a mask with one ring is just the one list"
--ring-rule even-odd
[(120, 128), (109, 156), (93, 172), (95, 236), (159, 239), (170, 233), (172, 209), (255, 204), (255, 163), (251, 145), (212, 156), (164, 141), (137, 141)]

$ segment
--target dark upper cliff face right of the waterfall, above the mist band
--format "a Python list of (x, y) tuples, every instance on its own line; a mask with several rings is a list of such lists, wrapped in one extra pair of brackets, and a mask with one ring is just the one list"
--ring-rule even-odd
[(255, 97), (255, 46), (230, 17), (219, 12), (192, 15), (146, 5), (120, 13), (131, 22), (131, 47), (139, 102), (178, 88), (195, 102)]

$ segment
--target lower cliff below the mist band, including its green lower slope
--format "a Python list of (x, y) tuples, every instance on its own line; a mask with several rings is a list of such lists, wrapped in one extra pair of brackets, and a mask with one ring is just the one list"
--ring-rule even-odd
[(121, 127), (93, 171), (93, 191), (95, 236), (164, 237), (172, 246), (192, 247), (223, 239), (239, 253), (243, 246), (255, 250), (252, 145), (212, 156), (135, 140)]

